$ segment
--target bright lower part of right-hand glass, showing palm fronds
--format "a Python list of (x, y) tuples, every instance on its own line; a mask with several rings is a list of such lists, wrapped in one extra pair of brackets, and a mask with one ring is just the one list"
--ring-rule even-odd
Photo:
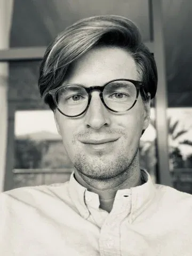
[(169, 108), (167, 116), (173, 186), (192, 194), (192, 107)]

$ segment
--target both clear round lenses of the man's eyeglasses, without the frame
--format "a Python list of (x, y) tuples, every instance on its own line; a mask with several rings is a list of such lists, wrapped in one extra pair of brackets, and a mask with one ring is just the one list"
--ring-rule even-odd
[[(137, 97), (135, 85), (129, 81), (114, 81), (105, 86), (103, 101), (114, 111), (126, 111), (132, 107)], [(66, 85), (56, 94), (58, 108), (63, 114), (75, 116), (87, 107), (89, 94), (81, 85)]]

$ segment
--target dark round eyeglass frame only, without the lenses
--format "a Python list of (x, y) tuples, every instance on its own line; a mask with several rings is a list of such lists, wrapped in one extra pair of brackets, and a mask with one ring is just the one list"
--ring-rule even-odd
[[(127, 82), (131, 82), (132, 84), (134, 84), (134, 86), (135, 86), (135, 88), (136, 88), (136, 90), (137, 90), (137, 95), (136, 95), (136, 98), (135, 98), (135, 101), (134, 101), (133, 105), (132, 105), (129, 109), (126, 109), (126, 110), (124, 110), (124, 111), (117, 111), (117, 110), (114, 110), (114, 109), (109, 108), (109, 107), (106, 105), (105, 101), (103, 100), (103, 90), (105, 89), (105, 87), (106, 87), (109, 83), (111, 83), (111, 82), (116, 82), (116, 81), (127, 81)], [(57, 105), (57, 101), (56, 101), (57, 92), (58, 92), (62, 87), (66, 87), (66, 86), (68, 86), (68, 85), (79, 85), (79, 86), (82, 86), (82, 87), (85, 89), (85, 91), (87, 92), (87, 94), (88, 94), (88, 102), (87, 102), (86, 108), (82, 111), (82, 113), (80, 113), (80, 114), (78, 114), (78, 115), (75, 115), (75, 116), (69, 116), (69, 115), (64, 114), (64, 113), (59, 109), (59, 106)], [(144, 93), (145, 93), (145, 90), (144, 90), (144, 87), (143, 87), (143, 82), (141, 82), (141, 81), (135, 81), (135, 80), (132, 80), (132, 79), (123, 79), (123, 78), (121, 79), (121, 78), (118, 78), (118, 79), (114, 79), (114, 80), (111, 80), (111, 81), (105, 83), (103, 86), (85, 87), (85, 86), (82, 85), (82, 84), (64, 84), (64, 85), (61, 85), (61, 86), (59, 86), (59, 87), (57, 87), (57, 88), (55, 88), (55, 89), (53, 89), (53, 90), (50, 90), (49, 92), (47, 92), (47, 93), (44, 95), (44, 97), (45, 97), (47, 94), (50, 94), (50, 95), (52, 96), (52, 98), (53, 98), (53, 101), (54, 101), (54, 104), (55, 104), (56, 108), (59, 110), (59, 112), (60, 112), (62, 115), (65, 115), (65, 116), (68, 116), (68, 117), (77, 117), (77, 116), (83, 115), (83, 114), (87, 111), (87, 109), (89, 108), (90, 102), (91, 102), (91, 98), (92, 98), (91, 92), (92, 92), (93, 90), (99, 90), (99, 91), (100, 91), (100, 93), (99, 93), (100, 99), (101, 99), (103, 105), (104, 105), (107, 109), (109, 109), (110, 111), (113, 111), (113, 112), (115, 112), (115, 113), (124, 113), (124, 112), (126, 112), (126, 111), (128, 111), (128, 110), (130, 110), (131, 108), (134, 107), (135, 103), (136, 103), (137, 100), (138, 100), (139, 91), (140, 91), (141, 89), (143, 89), (143, 91), (144, 91)], [(146, 93), (145, 93), (145, 94), (146, 94)]]

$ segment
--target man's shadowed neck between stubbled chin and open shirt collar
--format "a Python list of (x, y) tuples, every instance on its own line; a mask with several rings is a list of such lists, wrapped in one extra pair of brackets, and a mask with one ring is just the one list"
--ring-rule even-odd
[(99, 195), (100, 208), (108, 212), (111, 211), (117, 190), (129, 189), (142, 184), (139, 163), (129, 170), (121, 173), (117, 177), (107, 180), (95, 180), (79, 173), (75, 169), (76, 180), (87, 190)]

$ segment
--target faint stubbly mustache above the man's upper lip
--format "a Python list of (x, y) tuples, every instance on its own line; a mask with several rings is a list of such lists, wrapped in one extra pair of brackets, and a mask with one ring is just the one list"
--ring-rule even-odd
[(76, 134), (74, 134), (74, 140), (75, 139), (83, 139), (83, 138), (89, 138), (95, 136), (105, 137), (105, 135), (121, 135), (123, 137), (127, 136), (127, 133), (123, 129), (102, 129), (102, 130), (93, 130), (93, 129), (87, 129), (85, 131), (79, 131)]

